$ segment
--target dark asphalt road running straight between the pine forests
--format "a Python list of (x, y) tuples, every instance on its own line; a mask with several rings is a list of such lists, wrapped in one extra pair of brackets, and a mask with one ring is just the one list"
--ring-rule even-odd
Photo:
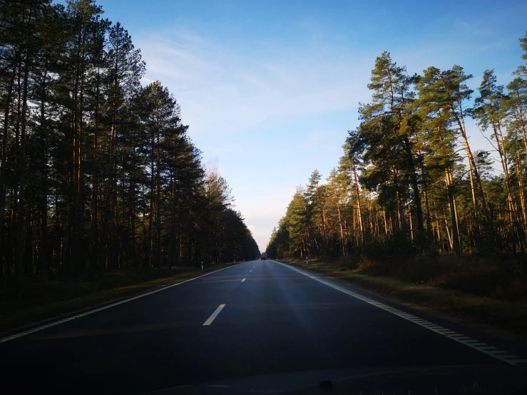
[(508, 363), (479, 334), (437, 332), (448, 323), (419, 313), (412, 321), (408, 310), (321, 281), (278, 262), (246, 262), (11, 339), (0, 343), (2, 388), (140, 394), (290, 371)]

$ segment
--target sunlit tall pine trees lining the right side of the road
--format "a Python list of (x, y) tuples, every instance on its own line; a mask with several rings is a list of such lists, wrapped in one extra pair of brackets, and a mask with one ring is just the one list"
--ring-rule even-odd
[[(527, 34), (520, 43), (527, 61)], [(377, 57), (371, 101), (359, 103), (360, 123), (348, 131), (338, 167), (326, 183), (315, 170), (297, 188), (267, 253), (522, 256), (527, 63), (506, 86), (486, 70), (475, 92), (471, 78), (461, 66), (410, 75), (390, 53)], [(471, 147), (469, 120), (496, 155)]]

